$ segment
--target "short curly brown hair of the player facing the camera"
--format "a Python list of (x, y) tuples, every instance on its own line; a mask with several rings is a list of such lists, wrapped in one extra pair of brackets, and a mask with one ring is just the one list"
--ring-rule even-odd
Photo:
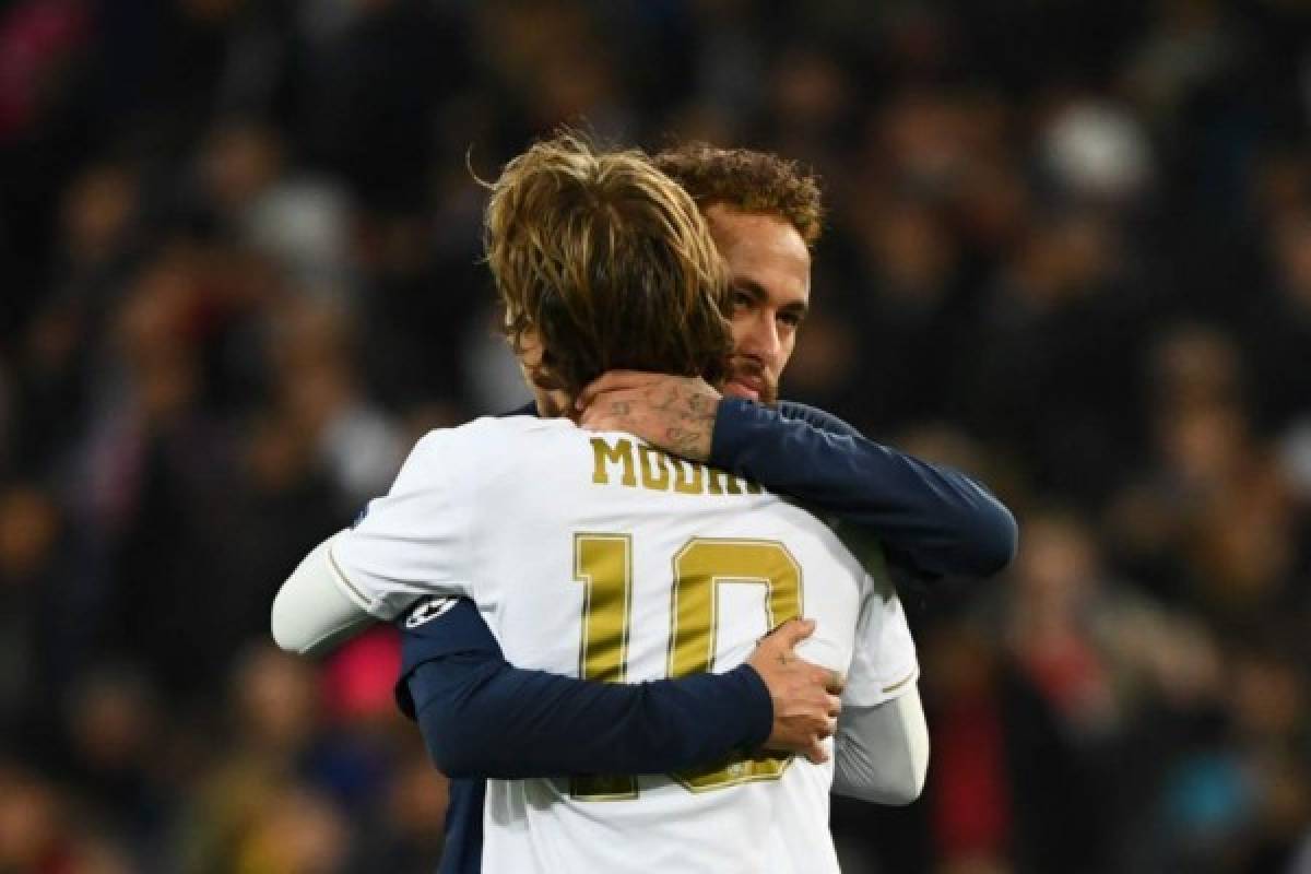
[(797, 229), (806, 246), (823, 231), (819, 177), (771, 152), (684, 143), (652, 159), (703, 210), (722, 203), (742, 212), (773, 212)]

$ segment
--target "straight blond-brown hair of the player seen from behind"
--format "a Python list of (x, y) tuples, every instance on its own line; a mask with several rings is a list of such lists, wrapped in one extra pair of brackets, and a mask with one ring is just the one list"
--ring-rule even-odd
[(564, 130), (492, 183), (484, 244), (517, 352), (577, 397), (610, 370), (718, 383), (733, 349), (728, 269), (705, 219), (638, 151), (602, 152)]

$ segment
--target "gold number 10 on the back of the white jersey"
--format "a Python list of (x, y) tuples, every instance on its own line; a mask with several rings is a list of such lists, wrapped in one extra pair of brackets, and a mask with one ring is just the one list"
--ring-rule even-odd
[[(633, 588), (629, 535), (574, 535), (574, 579), (583, 584), (578, 672), (585, 680), (624, 683)], [(718, 634), (720, 583), (764, 586), (767, 628), (801, 616), (801, 566), (772, 540), (694, 537), (674, 556), (667, 676), (711, 670)], [(671, 774), (691, 791), (777, 780), (791, 756), (728, 756)], [(585, 801), (637, 797), (631, 776), (574, 777), (570, 794)]]

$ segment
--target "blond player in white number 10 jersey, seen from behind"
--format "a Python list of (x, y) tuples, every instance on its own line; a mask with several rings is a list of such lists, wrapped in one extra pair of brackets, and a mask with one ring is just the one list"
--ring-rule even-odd
[[(612, 370), (724, 377), (722, 262), (695, 204), (645, 157), (568, 136), (539, 144), (506, 168), (488, 215), (489, 262), (541, 409), (572, 410)], [(885, 575), (787, 501), (623, 432), (564, 417), (435, 431), (361, 525), (316, 554), (287, 584), (324, 592), (320, 615), (284, 620), (279, 641), (295, 649), (423, 595), (467, 596), (515, 664), (640, 681), (725, 671), (805, 616), (817, 630), (800, 651), (848, 676), (846, 705), (897, 713), (885, 705), (905, 698), (923, 722)], [(877, 755), (884, 723), (865, 725), (843, 735), (857, 756)], [(905, 755), (922, 782), (927, 744)], [(640, 778), (494, 780), (482, 864), (831, 871), (832, 782), (832, 763), (751, 753)]]

